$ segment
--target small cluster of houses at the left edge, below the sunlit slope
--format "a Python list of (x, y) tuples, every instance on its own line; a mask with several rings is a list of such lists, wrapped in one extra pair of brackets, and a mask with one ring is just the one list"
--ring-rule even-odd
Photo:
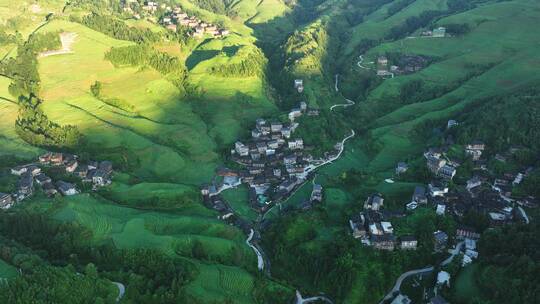
[(36, 185), (47, 196), (54, 196), (59, 192), (64, 196), (79, 193), (72, 183), (62, 180), (53, 181), (42, 172), (44, 167), (62, 167), (66, 173), (81, 178), (83, 182), (91, 183), (94, 189), (111, 183), (112, 163), (110, 161), (100, 163), (91, 161), (80, 164), (76, 155), (48, 152), (41, 155), (37, 163), (11, 169), (11, 174), (19, 176), (17, 190), (12, 194), (0, 193), (0, 208), (10, 208), (14, 203), (33, 196)]

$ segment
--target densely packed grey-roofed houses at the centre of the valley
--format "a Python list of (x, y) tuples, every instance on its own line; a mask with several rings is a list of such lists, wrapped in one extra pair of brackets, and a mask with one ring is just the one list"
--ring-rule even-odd
[[(301, 102), (289, 112), (289, 122), (257, 119), (251, 138), (237, 141), (231, 149), (231, 160), (243, 169), (219, 169), (217, 176), (222, 178), (221, 183), (203, 186), (203, 195), (213, 196), (220, 188), (245, 183), (249, 186), (250, 205), (257, 211), (265, 211), (271, 202), (290, 195), (306, 181), (312, 164), (323, 161), (313, 160), (305, 151), (304, 141), (294, 137), (299, 126), (295, 119), (308, 111), (307, 104)], [(320, 201), (322, 187), (314, 185), (310, 203)]]

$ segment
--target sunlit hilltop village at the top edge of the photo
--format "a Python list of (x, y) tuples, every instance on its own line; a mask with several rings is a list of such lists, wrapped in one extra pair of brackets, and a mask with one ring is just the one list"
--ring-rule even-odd
[(176, 32), (179, 27), (190, 29), (190, 35), (194, 38), (225, 37), (230, 34), (229, 30), (215, 24), (200, 20), (195, 16), (189, 16), (178, 5), (172, 6), (158, 1), (144, 1), (141, 5), (136, 0), (122, 2), (124, 13), (130, 14), (139, 20), (145, 18), (152, 23), (159, 23), (166, 29)]

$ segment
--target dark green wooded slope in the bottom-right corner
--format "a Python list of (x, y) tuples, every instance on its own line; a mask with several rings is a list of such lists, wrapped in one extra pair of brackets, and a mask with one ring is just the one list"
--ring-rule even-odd
[[(452, 303), (522, 303), (538, 292), (538, 223), (486, 231), (480, 240), (480, 263), (459, 273)], [(491, 292), (484, 292), (490, 290)]]

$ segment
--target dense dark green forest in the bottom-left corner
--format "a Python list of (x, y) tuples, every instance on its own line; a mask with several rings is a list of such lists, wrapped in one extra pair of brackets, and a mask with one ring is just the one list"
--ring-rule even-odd
[[(76, 224), (54, 222), (36, 213), (0, 212), (0, 231), (3, 236), (28, 246), (40, 256), (24, 258), (15, 249), (0, 250), (2, 259), (29, 272), (29, 276), (0, 286), (3, 289), (0, 299), (5, 296), (23, 303), (29, 297), (41, 299), (46, 296), (43, 290), (47, 290), (56, 303), (99, 303), (93, 301), (106, 300), (111, 291), (118, 295), (116, 287), (111, 285), (111, 288), (105, 288), (103, 280), (110, 279), (127, 286), (125, 298), (128, 302), (189, 302), (182, 292), (182, 286), (193, 277), (194, 268), (189, 262), (171, 258), (160, 251), (120, 250), (110, 243), (90, 246), (92, 233), (89, 230)], [(39, 258), (46, 258), (54, 266), (62, 268), (45, 265), (44, 268), (34, 269), (36, 263), (42, 264)], [(35, 260), (37, 262), (33, 262)], [(78, 272), (85, 276), (79, 277)], [(98, 284), (89, 288), (90, 282)], [(26, 290), (29, 285), (33, 286), (32, 289)], [(76, 286), (84, 288), (73, 290)], [(40, 290), (41, 294), (35, 294)], [(98, 300), (98, 295), (102, 300)], [(73, 300), (77, 296), (81, 298)], [(11, 303), (4, 303), (8, 302)]]

